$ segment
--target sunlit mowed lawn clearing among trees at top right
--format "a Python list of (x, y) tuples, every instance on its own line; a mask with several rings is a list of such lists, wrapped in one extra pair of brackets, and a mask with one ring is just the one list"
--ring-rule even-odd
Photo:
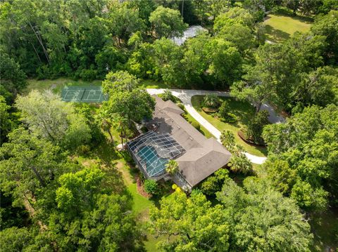
[(264, 23), (266, 39), (275, 43), (289, 39), (294, 32), (308, 32), (311, 27), (310, 19), (285, 14), (270, 14)]

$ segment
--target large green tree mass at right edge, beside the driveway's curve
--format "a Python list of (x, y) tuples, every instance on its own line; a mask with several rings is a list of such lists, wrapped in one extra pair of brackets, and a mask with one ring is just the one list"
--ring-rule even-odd
[(312, 106), (263, 132), (269, 159), (277, 162), (266, 164), (270, 178), (306, 210), (325, 208), (328, 196), (337, 205), (337, 121), (337, 106)]

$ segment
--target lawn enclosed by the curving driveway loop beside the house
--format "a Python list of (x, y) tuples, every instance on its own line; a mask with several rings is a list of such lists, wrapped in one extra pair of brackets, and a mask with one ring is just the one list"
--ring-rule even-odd
[(192, 97), (192, 106), (199, 112), (199, 114), (201, 114), (202, 117), (213, 124), (213, 126), (215, 126), (215, 128), (217, 128), (219, 131), (232, 131), (237, 144), (242, 145), (246, 152), (258, 157), (265, 157), (268, 154), (265, 148), (248, 145), (237, 135), (237, 132), (246, 124), (248, 124), (249, 120), (255, 113), (255, 109), (249, 104), (249, 102), (239, 102), (234, 100), (234, 98), (227, 97), (220, 98), (221, 100), (227, 100), (230, 106), (230, 111), (235, 114), (238, 119), (237, 123), (227, 124), (223, 121), (213, 118), (210, 114), (206, 114), (206, 112), (201, 110), (201, 102), (203, 101), (203, 98), (204, 95), (195, 95)]

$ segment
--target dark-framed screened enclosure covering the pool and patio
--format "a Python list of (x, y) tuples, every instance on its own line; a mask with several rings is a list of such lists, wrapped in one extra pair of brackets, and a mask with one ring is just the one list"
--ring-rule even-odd
[(163, 175), (165, 164), (185, 152), (169, 133), (158, 134), (154, 131), (127, 142), (127, 149), (147, 178)]

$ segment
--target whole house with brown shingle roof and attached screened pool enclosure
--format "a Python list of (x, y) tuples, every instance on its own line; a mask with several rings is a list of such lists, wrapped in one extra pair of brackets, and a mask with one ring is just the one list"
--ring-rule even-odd
[[(225, 166), (230, 152), (215, 138), (207, 139), (183, 117), (183, 110), (174, 102), (153, 95), (156, 106), (153, 119), (146, 122), (149, 131), (127, 143), (134, 161), (146, 178), (172, 179), (191, 191), (209, 175)], [(179, 171), (170, 176), (165, 164), (175, 159)]]

